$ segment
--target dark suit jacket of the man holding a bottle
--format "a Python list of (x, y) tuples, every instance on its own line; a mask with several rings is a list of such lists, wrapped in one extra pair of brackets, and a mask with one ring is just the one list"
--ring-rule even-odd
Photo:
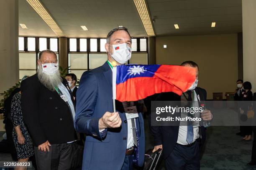
[[(200, 96), (200, 100), (206, 100), (206, 91), (200, 87), (195, 88), (195, 92)], [(180, 101), (181, 97), (173, 92), (164, 92), (159, 94), (157, 101)], [(199, 100), (198, 100), (199, 101)], [(180, 113), (179, 113), (180, 115)], [(152, 135), (154, 136), (154, 145), (163, 145), (164, 159), (171, 153), (178, 140), (179, 126), (151, 126), (149, 125)], [(205, 142), (205, 128), (200, 126), (201, 131), (201, 147)]]

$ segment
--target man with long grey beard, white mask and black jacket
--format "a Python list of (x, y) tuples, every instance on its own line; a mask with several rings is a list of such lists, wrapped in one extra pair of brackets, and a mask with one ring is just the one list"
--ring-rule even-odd
[(74, 98), (60, 76), (57, 56), (40, 52), (37, 73), (21, 83), (23, 119), (33, 138), (39, 170), (72, 169)]

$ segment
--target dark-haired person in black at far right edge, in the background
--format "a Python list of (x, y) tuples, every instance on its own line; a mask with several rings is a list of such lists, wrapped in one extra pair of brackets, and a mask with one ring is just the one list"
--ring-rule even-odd
[[(241, 107), (239, 108), (241, 115), (246, 115), (247, 120), (246, 120), (246, 124), (243, 126), (242, 123), (242, 133), (245, 135), (245, 137), (242, 139), (244, 141), (249, 141), (251, 140), (251, 134), (252, 134), (252, 128), (251, 128), (251, 123), (250, 125), (248, 125), (249, 122), (252, 121), (252, 117), (250, 117), (248, 115), (248, 110), (250, 109), (250, 107), (252, 106), (252, 102), (253, 101), (253, 93), (251, 92), (251, 82), (244, 82), (243, 83), (243, 88), (244, 90), (241, 92), (242, 95), (242, 104)], [(242, 118), (241, 118), (242, 119)]]

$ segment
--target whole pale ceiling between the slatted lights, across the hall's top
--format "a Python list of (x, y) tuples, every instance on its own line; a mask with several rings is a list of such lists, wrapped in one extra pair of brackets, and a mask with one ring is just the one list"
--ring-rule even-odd
[[(146, 31), (133, 0), (41, 0), (67, 37), (106, 37), (118, 25), (132, 37)], [(242, 32), (241, 0), (147, 0), (156, 36)], [(216, 27), (211, 28), (211, 22)], [(56, 37), (26, 0), (19, 0), (19, 35)], [(174, 28), (179, 24), (179, 30)], [(80, 25), (86, 25), (88, 31)]]

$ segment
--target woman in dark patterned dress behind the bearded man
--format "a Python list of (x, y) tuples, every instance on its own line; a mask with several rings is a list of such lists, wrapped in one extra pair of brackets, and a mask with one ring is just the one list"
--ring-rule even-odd
[[(28, 77), (28, 76), (26, 76)], [(23, 79), (25, 80), (25, 78)], [(33, 142), (23, 121), (21, 111), (21, 91), (13, 96), (11, 103), (11, 120), (13, 122), (13, 142), (17, 151), (18, 162), (27, 162), (34, 155)], [(26, 170), (26, 167), (17, 167), (15, 170)]]

